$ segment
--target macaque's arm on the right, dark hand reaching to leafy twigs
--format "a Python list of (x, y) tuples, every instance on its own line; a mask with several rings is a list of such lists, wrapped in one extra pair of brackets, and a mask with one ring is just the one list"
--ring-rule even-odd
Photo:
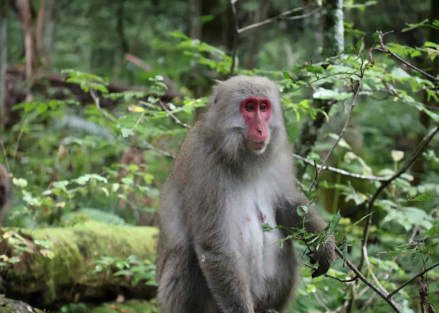
[[(304, 197), (298, 199), (288, 200), (280, 199), (277, 204), (277, 219), (278, 224), (285, 227), (302, 228), (303, 221), (306, 231), (313, 234), (319, 234), (327, 225), (314, 206), (308, 207), (305, 219), (303, 216), (297, 214), (297, 207), (307, 205)], [(314, 249), (317, 247), (317, 240), (313, 242)], [(335, 254), (335, 239), (332, 235), (327, 235), (324, 238), (324, 244), (320, 245), (317, 252), (311, 256), (311, 263), (319, 262), (319, 267), (312, 274), (312, 277), (320, 276), (327, 272), (331, 264), (336, 258)]]

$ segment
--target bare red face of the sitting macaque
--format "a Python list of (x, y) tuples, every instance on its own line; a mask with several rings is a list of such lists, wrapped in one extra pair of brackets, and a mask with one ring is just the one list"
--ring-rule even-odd
[(267, 123), (271, 116), (271, 102), (264, 97), (247, 97), (241, 102), (240, 112), (247, 124), (245, 143), (256, 151), (265, 149), (269, 139)]

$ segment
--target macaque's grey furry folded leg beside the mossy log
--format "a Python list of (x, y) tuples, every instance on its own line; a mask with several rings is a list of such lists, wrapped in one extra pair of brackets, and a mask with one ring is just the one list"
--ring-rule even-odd
[[(219, 313), (193, 251), (170, 255), (159, 281), (162, 313)], [(176, 257), (178, 255), (178, 257)]]

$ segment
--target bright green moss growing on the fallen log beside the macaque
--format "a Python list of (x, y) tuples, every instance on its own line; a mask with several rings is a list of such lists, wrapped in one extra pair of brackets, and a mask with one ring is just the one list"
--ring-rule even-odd
[[(158, 229), (154, 227), (86, 221), (72, 227), (21, 231), (34, 240), (52, 242), (47, 249), (54, 256), (49, 258), (35, 252), (23, 257), (22, 264), (7, 271), (11, 283), (8, 288), (22, 294), (39, 292), (45, 305), (55, 301), (69, 302), (75, 295), (66, 290), (74, 290), (74, 286), (80, 286), (76, 290), (80, 290), (81, 297), (99, 297), (100, 290), (95, 288), (99, 286), (131, 288), (130, 277), (113, 275), (118, 269), (94, 272), (95, 261), (103, 256), (125, 259), (135, 255), (139, 260), (153, 262), (156, 256)], [(0, 290), (2, 288), (6, 286), (0, 285)]]

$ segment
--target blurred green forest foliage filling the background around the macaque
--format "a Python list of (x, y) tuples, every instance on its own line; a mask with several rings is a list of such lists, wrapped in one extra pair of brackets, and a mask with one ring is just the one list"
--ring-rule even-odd
[[(122, 33), (117, 26), (121, 3)], [(298, 0), (273, 0), (269, 16), (302, 4)], [(389, 178), (410, 158), (425, 133), (439, 123), (438, 83), (379, 51), (372, 52), (371, 64), (368, 50), (377, 42), (375, 31), (395, 30), (384, 37), (386, 47), (437, 77), (439, 24), (437, 20), (425, 21), (431, 13), (429, 1), (400, 0), (396, 5), (392, 1), (349, 0), (344, 6), (346, 48), (341, 56), (320, 57), (321, 22), (317, 14), (297, 21), (275, 21), (243, 33), (237, 45), (236, 69), (241, 74), (266, 75), (277, 82), (291, 141), (298, 137), (303, 121), (325, 115), (322, 135), (313, 151), (304, 156), (317, 163), (338, 137), (362, 78), (358, 104), (328, 165)], [(246, 1), (239, 9), (239, 22), (249, 24), (259, 2)], [(94, 93), (97, 100), (81, 103), (69, 90), (51, 87), (49, 96), (36, 94), (32, 102), (14, 106), (20, 122), (2, 136), (14, 174), (13, 210), (6, 225), (40, 228), (89, 218), (112, 224), (154, 224), (158, 190), (172, 164), (169, 155), (178, 153), (187, 133), (187, 128), (175, 123), (162, 105), (183, 123), (193, 124), (208, 101), (212, 79), (226, 78), (232, 64), (230, 37), (234, 30), (228, 2), (202, 1), (202, 38), (185, 35), (191, 28), (187, 10), (187, 1), (56, 1), (50, 64), (44, 66), (52, 71), (68, 68), (64, 71), (67, 81)], [(20, 24), (11, 10), (8, 22), (8, 62), (23, 63)], [(428, 35), (431, 29), (436, 31), (436, 40)], [(248, 50), (256, 36), (261, 40), (259, 49)], [(143, 71), (124, 60), (126, 52), (152, 70)], [(252, 53), (257, 54), (257, 66), (246, 68)], [(181, 97), (163, 103), (165, 76), (176, 83)], [(148, 92), (111, 93), (107, 87), (113, 80), (146, 86)], [(50, 97), (60, 91), (67, 95), (66, 100)], [(97, 105), (104, 99), (119, 102), (111, 108)], [(335, 104), (326, 114), (316, 108), (317, 100)], [(389, 291), (421, 271), (424, 262), (428, 267), (439, 260), (438, 143), (436, 136), (421, 160), (393, 181), (375, 202), (368, 244), (370, 265), (365, 275), (370, 278), (373, 270)], [(130, 146), (140, 147), (143, 163), (122, 164), (121, 157)], [(4, 163), (3, 154), (0, 162)], [(123, 177), (119, 175), (121, 169)], [(314, 175), (313, 167), (308, 167), (301, 183), (308, 186)], [(363, 223), (355, 222), (367, 214), (366, 210), (355, 210), (378, 186), (378, 181), (322, 172), (313, 192), (328, 221), (340, 211), (334, 232), (338, 242), (346, 236), (347, 256), (354, 263), (360, 259), (363, 235)], [(122, 206), (121, 200), (128, 205)], [(145, 221), (145, 217), (150, 219)], [(419, 240), (410, 242), (410, 238)], [(305, 251), (303, 245), (299, 249)], [(105, 259), (102, 263), (110, 266), (122, 261)], [(307, 262), (305, 257), (303, 261)], [(140, 261), (131, 263), (138, 265)], [(150, 274), (149, 264), (141, 267), (146, 267), (146, 272), (135, 267), (137, 272), (131, 274)], [(125, 265), (121, 271), (129, 268), (135, 271)], [(312, 279), (311, 271), (302, 268), (303, 285), (290, 312), (335, 311), (346, 306), (353, 292), (356, 301), (352, 312), (390, 311), (365, 285), (354, 291), (352, 285), (335, 279)], [(340, 279), (353, 276), (340, 261), (328, 274)], [(428, 284), (430, 302), (438, 309), (438, 268), (428, 273)], [(419, 312), (419, 287), (416, 281), (393, 296), (403, 312)], [(63, 312), (66, 310), (67, 306)]]

